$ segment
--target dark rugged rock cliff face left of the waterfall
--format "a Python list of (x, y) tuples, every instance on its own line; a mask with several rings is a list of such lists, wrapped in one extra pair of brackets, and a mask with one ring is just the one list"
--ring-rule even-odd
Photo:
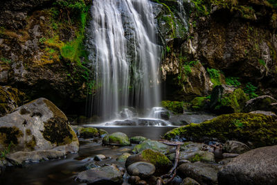
[[(3, 1), (0, 8), (0, 85), (30, 99), (46, 97), (64, 110), (85, 101), (87, 88), (76, 62), (61, 54), (79, 23), (54, 15), (53, 0)], [(64, 19), (64, 20), (63, 20)], [(67, 103), (66, 103), (67, 102)]]

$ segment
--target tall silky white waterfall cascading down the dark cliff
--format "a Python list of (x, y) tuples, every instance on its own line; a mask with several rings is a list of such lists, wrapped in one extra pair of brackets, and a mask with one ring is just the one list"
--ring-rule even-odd
[[(89, 60), (96, 94), (89, 113), (116, 118), (127, 106), (158, 106), (160, 51), (148, 0), (94, 0)], [(146, 114), (146, 112), (145, 112)]]

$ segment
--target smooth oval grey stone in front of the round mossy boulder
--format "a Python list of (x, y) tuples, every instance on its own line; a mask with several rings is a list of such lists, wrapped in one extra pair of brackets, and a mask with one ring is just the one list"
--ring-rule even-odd
[(139, 176), (142, 178), (150, 177), (155, 173), (155, 166), (147, 162), (136, 162), (128, 166), (127, 173), (133, 176)]

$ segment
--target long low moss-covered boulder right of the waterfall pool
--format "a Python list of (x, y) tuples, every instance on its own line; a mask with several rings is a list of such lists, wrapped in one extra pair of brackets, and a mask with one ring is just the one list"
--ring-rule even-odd
[(183, 137), (193, 141), (237, 140), (250, 141), (255, 147), (271, 146), (277, 144), (277, 123), (264, 114), (224, 114), (210, 121), (175, 128), (163, 136), (165, 139)]

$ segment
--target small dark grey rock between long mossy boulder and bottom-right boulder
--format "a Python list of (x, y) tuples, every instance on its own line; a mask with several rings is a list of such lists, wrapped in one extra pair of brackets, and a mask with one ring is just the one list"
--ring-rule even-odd
[(250, 150), (250, 148), (240, 141), (226, 141), (223, 150), (227, 153), (242, 154)]

